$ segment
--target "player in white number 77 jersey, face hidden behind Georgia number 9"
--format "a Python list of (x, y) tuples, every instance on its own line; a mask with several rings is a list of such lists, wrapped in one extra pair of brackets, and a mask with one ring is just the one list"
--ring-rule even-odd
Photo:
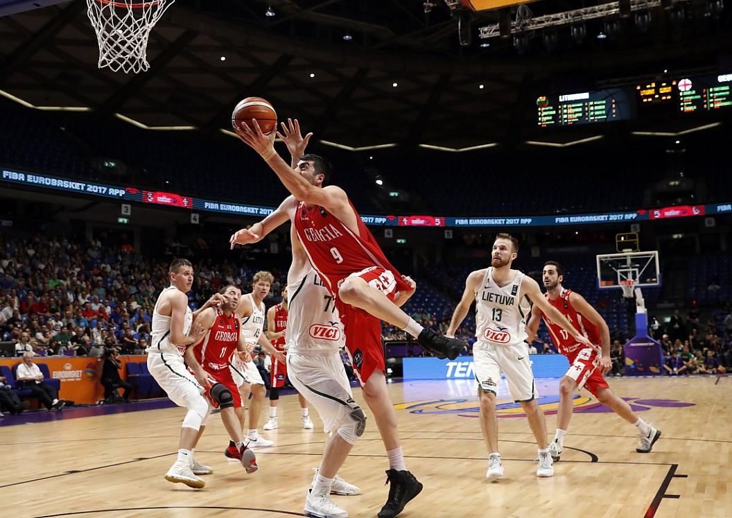
[[(291, 232), (294, 232), (291, 231)], [(348, 517), (329, 495), (358, 495), (337, 472), (366, 426), (366, 416), (354, 401), (346, 369), (340, 360), (345, 343), (335, 301), (315, 273), (296, 235), (292, 235), (292, 265), (288, 272), (287, 369), (290, 382), (315, 407), (330, 434), (323, 459), (305, 497), (305, 514)]]

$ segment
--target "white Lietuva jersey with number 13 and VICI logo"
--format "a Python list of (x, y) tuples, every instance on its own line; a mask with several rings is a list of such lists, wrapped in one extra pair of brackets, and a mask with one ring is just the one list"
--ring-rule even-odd
[(493, 267), (483, 278), (483, 284), (475, 294), (477, 344), (515, 345), (523, 342), (526, 319), (531, 314), (531, 303), (520, 298), (523, 273), (517, 272), (506, 286), (493, 281)]

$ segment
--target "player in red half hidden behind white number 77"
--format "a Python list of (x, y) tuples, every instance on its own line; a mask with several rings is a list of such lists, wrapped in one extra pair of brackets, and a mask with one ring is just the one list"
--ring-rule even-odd
[[(285, 350), (285, 329), (287, 328), (287, 286), (282, 289), (282, 302), (275, 304), (267, 310), (267, 338), (272, 342), (272, 347), (286, 355)], [(287, 363), (283, 363), (272, 357), (272, 367), (269, 369), (269, 421), (264, 424), (265, 430), (276, 430), (277, 425), (277, 403), (280, 400), (280, 388), (285, 386), (287, 379)], [(302, 427), (306, 430), (313, 429), (313, 421), (310, 419), (310, 410), (307, 408), (307, 401), (298, 393), (300, 409), (302, 410)]]

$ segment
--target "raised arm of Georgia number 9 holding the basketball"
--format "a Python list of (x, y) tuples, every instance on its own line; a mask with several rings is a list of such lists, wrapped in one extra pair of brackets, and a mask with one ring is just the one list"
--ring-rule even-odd
[(290, 191), (292, 196), (306, 203), (320, 205), (332, 212), (343, 209), (348, 205), (348, 196), (343, 192), (343, 189), (335, 185), (324, 188), (312, 185), (299, 172), (291, 169), (280, 155), (277, 155), (273, 145), (274, 135), (264, 135), (256, 119), (252, 119), (252, 125), (254, 129), (242, 122), (242, 126), (236, 130), (236, 133), (239, 138), (264, 158), (264, 161), (272, 168), (272, 171), (275, 171), (280, 182), (285, 185), (285, 188)]

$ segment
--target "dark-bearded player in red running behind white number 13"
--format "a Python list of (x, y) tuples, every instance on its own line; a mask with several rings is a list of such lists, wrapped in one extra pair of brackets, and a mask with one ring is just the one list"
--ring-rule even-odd
[(526, 326), (529, 332), (529, 341), (537, 335), (539, 319), (549, 330), (552, 341), (559, 352), (569, 359), (569, 370), (559, 382), (559, 411), (557, 413), (556, 435), (549, 446), (549, 451), (555, 461), (559, 460), (562, 448), (564, 447), (564, 434), (567, 433), (569, 419), (572, 418), (572, 393), (580, 388), (586, 388), (597, 401), (610, 407), (628, 423), (635, 426), (641, 434), (641, 443), (635, 451), (640, 454), (647, 454), (653, 448), (654, 443), (661, 437), (660, 430), (650, 426), (646, 421), (639, 418), (632, 411), (630, 405), (624, 399), (610, 390), (608, 382), (602, 376), (611, 369), (610, 363), (610, 330), (605, 319), (603, 319), (595, 308), (580, 295), (572, 292), (571, 289), (562, 287), (564, 272), (558, 262), (548, 261), (542, 271), (542, 280), (547, 289), (545, 297), (549, 303), (559, 309), (564, 317), (576, 330), (583, 333), (592, 344), (600, 345), (601, 352), (598, 358), (597, 349), (578, 344), (566, 330), (551, 322), (545, 314), (534, 305), (531, 308), (531, 319)]

